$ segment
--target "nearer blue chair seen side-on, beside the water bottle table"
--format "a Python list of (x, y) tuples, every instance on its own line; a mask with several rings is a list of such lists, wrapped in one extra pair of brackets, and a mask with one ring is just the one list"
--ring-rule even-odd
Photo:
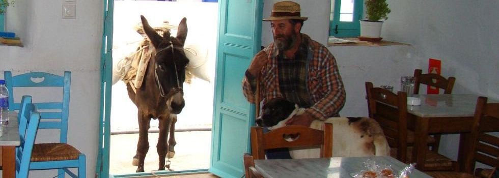
[(40, 113), (32, 104), (31, 96), (22, 96), (21, 104), (18, 117), (21, 144), (16, 148), (16, 177), (27, 178), (30, 173), (30, 159), (40, 123)]

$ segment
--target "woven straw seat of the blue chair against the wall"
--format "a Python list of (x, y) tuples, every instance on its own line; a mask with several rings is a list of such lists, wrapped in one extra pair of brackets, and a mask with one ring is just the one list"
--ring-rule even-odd
[(75, 160), (81, 154), (67, 143), (37, 143), (33, 147), (31, 161)]

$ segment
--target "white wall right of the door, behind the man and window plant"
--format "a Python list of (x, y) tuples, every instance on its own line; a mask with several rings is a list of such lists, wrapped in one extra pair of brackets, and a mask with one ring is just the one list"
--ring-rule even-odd
[[(265, 1), (268, 17), (276, 0)], [(329, 0), (295, 0), (305, 21), (302, 33), (326, 43)], [(343, 116), (366, 116), (365, 81), (400, 88), (400, 76), (427, 69), (428, 58), (442, 61), (441, 74), (456, 77), (453, 93), (474, 93), (499, 98), (499, 2), (497, 1), (397, 1), (388, 0), (392, 13), (381, 37), (411, 46), (332, 46), (345, 84), (347, 101)], [(263, 22), (262, 43), (272, 41), (269, 22)], [(458, 136), (442, 136), (440, 153), (457, 157)]]

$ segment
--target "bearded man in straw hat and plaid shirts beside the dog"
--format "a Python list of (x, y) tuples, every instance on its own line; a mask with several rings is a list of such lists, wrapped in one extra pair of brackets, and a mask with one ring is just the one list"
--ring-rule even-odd
[(345, 89), (335, 57), (322, 44), (300, 33), (303, 21), (300, 5), (275, 3), (270, 17), (274, 42), (258, 52), (243, 79), (244, 96), (255, 103), (257, 78), (264, 105), (272, 98), (286, 98), (307, 108), (287, 125), (310, 126), (313, 120), (339, 116), (345, 104)]

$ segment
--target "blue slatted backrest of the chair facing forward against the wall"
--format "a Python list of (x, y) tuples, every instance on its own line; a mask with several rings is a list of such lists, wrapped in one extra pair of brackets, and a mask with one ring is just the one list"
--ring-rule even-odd
[(36, 87), (37, 91), (54, 91), (54, 87), (62, 88), (61, 99), (50, 102), (36, 102), (41, 114), (40, 129), (60, 129), (60, 142), (67, 142), (69, 96), (71, 85), (71, 72), (64, 72), (64, 76), (45, 72), (30, 72), (12, 76), (10, 71), (4, 72), (7, 88), (9, 89), (9, 110), (19, 110), (21, 104), (15, 102), (16, 88)]

